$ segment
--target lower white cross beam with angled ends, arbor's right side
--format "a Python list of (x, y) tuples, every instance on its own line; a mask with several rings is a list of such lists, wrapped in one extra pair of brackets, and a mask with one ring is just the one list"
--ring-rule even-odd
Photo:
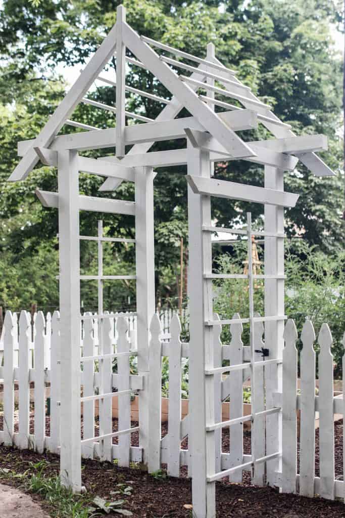
[(274, 189), (266, 189), (256, 185), (203, 178), (201, 176), (187, 175), (187, 182), (196, 194), (238, 199), (243, 202), (262, 203), (278, 207), (294, 207), (298, 199), (298, 194), (275, 191)]

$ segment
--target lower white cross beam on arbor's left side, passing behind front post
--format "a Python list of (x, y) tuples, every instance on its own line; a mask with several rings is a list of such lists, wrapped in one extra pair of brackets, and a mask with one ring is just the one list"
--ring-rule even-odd
[[(43, 207), (58, 208), (58, 193), (36, 189), (36, 196)], [(95, 196), (79, 196), (79, 209), (92, 212), (108, 212), (111, 214), (135, 215), (134, 202), (122, 199), (96, 198)]]

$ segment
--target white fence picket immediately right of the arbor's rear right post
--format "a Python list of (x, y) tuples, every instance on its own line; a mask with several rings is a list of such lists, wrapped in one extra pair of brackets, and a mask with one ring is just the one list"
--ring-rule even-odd
[(282, 404), (282, 491), (296, 493), (297, 474), (297, 330), (289, 319), (283, 338), (283, 404)]

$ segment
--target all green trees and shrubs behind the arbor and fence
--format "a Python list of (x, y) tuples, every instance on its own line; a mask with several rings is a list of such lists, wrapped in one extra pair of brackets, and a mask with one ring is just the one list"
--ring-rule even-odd
[[(0, 12), (0, 305), (11, 310), (58, 306), (57, 213), (44, 209), (35, 189), (56, 190), (56, 170), (40, 164), (24, 181), (6, 182), (18, 162), (16, 142), (33, 138), (63, 98), (67, 85), (58, 70), (83, 67), (116, 21), (119, 2), (104, 0), (4, 0)], [(317, 178), (301, 163), (286, 175), (286, 189), (300, 194), (294, 209), (286, 214), (286, 233), (292, 238), (287, 274), (287, 313), (299, 324), (305, 315), (317, 322), (334, 323), (337, 340), (344, 327), (344, 207), (342, 172), (342, 59), (335, 50), (333, 34), (342, 23), (338, 0), (124, 0), (127, 20), (139, 33), (197, 55), (205, 55), (209, 41), (217, 57), (238, 70), (238, 77), (262, 100), (274, 106), (296, 134), (324, 133), (329, 150), (322, 154), (335, 170), (333, 178)], [(114, 60), (109, 68), (115, 68)], [(169, 96), (155, 78), (141, 68), (131, 68), (127, 83), (132, 87)], [(114, 89), (97, 82), (88, 94), (102, 103), (114, 103)], [(154, 118), (162, 105), (135, 95), (128, 109)], [(187, 112), (181, 112), (186, 116)], [(80, 105), (73, 119), (98, 127), (115, 124), (112, 114)], [(72, 131), (63, 127), (62, 133)], [(74, 130), (73, 130), (74, 131)], [(244, 132), (246, 140), (269, 137), (267, 130)], [(154, 150), (184, 147), (185, 141), (156, 143)], [(85, 153), (97, 156), (96, 151)], [(113, 154), (114, 150), (101, 150)], [(181, 237), (186, 243), (187, 207), (183, 167), (160, 169), (155, 180), (155, 261), (157, 300), (174, 304)], [(263, 185), (263, 168), (245, 163), (216, 164), (216, 176)], [(80, 176), (80, 191), (99, 195), (101, 180)], [(113, 193), (133, 199), (133, 184), (123, 182)], [(231, 226), (245, 222), (245, 203), (216, 199), (213, 217)], [(261, 206), (250, 206), (257, 228), (262, 228)], [(109, 236), (134, 237), (132, 220), (122, 215), (101, 215)], [(81, 213), (81, 234), (95, 235), (100, 214)], [(294, 239), (296, 236), (302, 239)], [(298, 246), (295, 244), (298, 242)], [(215, 266), (242, 268), (242, 244), (215, 252)], [(96, 268), (93, 243), (83, 244), (82, 269)], [(105, 254), (109, 275), (133, 271), (133, 247), (113, 246)], [(237, 265), (237, 266), (236, 266)], [(230, 297), (230, 294), (233, 296)], [(85, 310), (96, 310), (97, 290), (83, 283)], [(257, 291), (257, 308), (260, 290)], [(105, 293), (109, 309), (135, 305), (134, 286), (109, 285)], [(225, 282), (219, 287), (218, 310), (224, 314), (245, 312), (246, 291)], [(242, 309), (243, 308), (243, 309)], [(340, 342), (339, 342), (340, 343)]]

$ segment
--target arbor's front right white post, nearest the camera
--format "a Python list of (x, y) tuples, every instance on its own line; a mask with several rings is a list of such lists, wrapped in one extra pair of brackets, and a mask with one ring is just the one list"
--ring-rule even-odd
[[(209, 178), (209, 153), (193, 148), (188, 142), (188, 174)], [(215, 472), (215, 433), (206, 425), (214, 424), (214, 377), (205, 377), (205, 368), (213, 368), (213, 329), (205, 320), (213, 319), (212, 280), (204, 274), (212, 271), (211, 233), (202, 226), (211, 225), (211, 198), (194, 194), (188, 185), (189, 227), (189, 405), (188, 448), (192, 455), (193, 516), (215, 516), (215, 482), (206, 482)], [(206, 397), (207, 395), (207, 397)]]

